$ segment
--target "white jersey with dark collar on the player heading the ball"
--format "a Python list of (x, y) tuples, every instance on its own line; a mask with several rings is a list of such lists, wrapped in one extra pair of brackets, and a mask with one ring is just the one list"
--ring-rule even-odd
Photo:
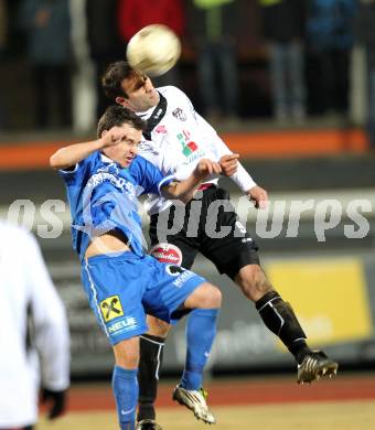
[[(165, 176), (173, 174), (178, 180), (184, 180), (201, 159), (218, 161), (221, 157), (232, 153), (210, 123), (194, 110), (183, 92), (172, 86), (157, 89), (161, 96), (159, 105), (146, 112), (137, 112), (149, 123), (154, 123), (149, 136), (143, 133), (140, 155), (157, 165)], [(231, 179), (243, 192), (256, 185), (240, 163)], [(216, 183), (217, 178), (206, 182)], [(171, 202), (156, 195), (150, 195), (147, 201), (149, 214), (161, 212), (170, 205)]]

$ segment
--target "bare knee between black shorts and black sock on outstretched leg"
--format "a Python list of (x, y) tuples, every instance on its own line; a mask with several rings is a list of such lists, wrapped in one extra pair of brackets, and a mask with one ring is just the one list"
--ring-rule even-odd
[(236, 282), (244, 294), (253, 301), (259, 300), (266, 292), (272, 290), (271, 283), (259, 265), (243, 267), (236, 277)]

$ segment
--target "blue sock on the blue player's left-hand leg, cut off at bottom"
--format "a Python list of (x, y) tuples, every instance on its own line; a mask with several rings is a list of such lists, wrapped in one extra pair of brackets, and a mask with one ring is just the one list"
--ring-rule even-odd
[(138, 402), (138, 369), (129, 370), (115, 366), (113, 390), (116, 399), (117, 415), (121, 430), (135, 430), (136, 408)]

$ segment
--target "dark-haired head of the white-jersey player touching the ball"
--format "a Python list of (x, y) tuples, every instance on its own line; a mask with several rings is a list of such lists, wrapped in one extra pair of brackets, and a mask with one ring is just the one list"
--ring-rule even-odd
[(136, 112), (146, 111), (159, 103), (159, 93), (150, 78), (124, 61), (109, 64), (101, 85), (108, 98)]

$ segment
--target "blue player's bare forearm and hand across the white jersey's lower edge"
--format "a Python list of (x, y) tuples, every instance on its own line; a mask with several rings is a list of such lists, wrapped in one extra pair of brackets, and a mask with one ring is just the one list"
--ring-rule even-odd
[(161, 193), (165, 198), (179, 198), (183, 203), (188, 203), (193, 198), (194, 192), (202, 181), (212, 174), (219, 174), (221, 172), (222, 168), (218, 163), (202, 159), (186, 180), (171, 182), (161, 189)]

